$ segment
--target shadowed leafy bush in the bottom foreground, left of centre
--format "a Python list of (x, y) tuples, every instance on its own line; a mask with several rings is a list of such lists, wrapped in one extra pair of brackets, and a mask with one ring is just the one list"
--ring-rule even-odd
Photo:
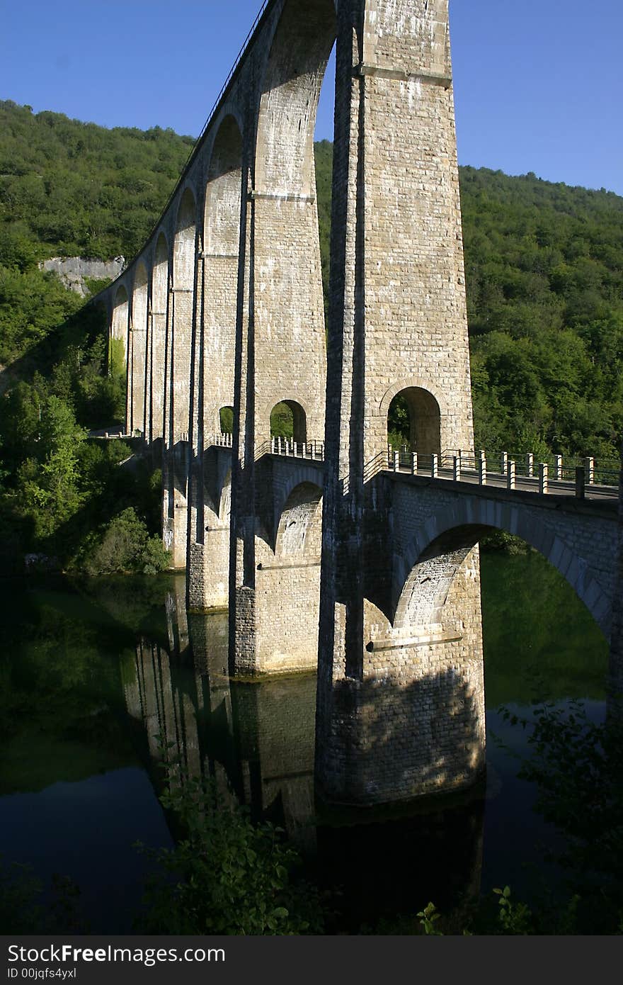
[(161, 866), (140, 931), (150, 934), (319, 934), (320, 897), (296, 878), (299, 857), (280, 828), (254, 824), (214, 781), (172, 780), (160, 798), (181, 824), (173, 849), (147, 850)]

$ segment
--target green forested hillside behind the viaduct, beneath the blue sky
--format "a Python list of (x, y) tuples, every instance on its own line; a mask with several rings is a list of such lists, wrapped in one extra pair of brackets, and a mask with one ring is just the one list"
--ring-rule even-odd
[[(40, 344), (80, 321), (84, 301), (37, 262), (130, 259), (192, 146), (169, 129), (107, 130), (0, 102), (0, 363), (40, 351), (51, 370), (58, 346)], [(331, 144), (316, 155), (327, 279)], [(476, 446), (618, 457), (623, 198), (472, 167), (461, 195)]]

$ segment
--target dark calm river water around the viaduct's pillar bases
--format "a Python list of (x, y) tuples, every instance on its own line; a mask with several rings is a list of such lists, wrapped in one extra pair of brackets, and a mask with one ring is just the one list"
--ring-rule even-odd
[(555, 881), (542, 846), (555, 846), (558, 835), (517, 777), (526, 733), (498, 708), (524, 713), (534, 696), (579, 697), (598, 719), (607, 646), (538, 555), (483, 553), (481, 569), (486, 786), (425, 813), (318, 814), (315, 677), (229, 681), (226, 616), (187, 617), (183, 576), (6, 581), (5, 867), (29, 866), (48, 906), (54, 874), (71, 879), (85, 932), (131, 933), (154, 866), (136, 842), (172, 844), (156, 794), (164, 741), (183, 768), (215, 777), (223, 803), (235, 796), (285, 828), (310, 877), (339, 887), (340, 928), (397, 927), (399, 914), (429, 899), (448, 911), (504, 884), (530, 900), (543, 881)]

